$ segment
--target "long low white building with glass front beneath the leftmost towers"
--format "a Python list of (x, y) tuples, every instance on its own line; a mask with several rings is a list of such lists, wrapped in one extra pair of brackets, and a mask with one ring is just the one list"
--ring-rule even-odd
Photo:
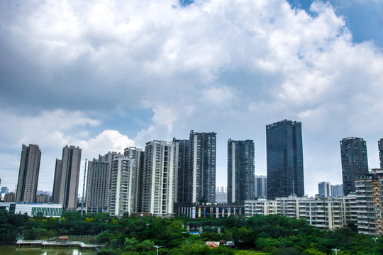
[(0, 203), (0, 210), (28, 216), (61, 217), (62, 205), (53, 203)]

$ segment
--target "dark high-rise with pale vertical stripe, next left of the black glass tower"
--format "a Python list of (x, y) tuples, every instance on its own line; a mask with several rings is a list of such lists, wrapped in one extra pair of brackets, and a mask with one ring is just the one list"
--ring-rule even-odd
[(255, 198), (254, 141), (228, 140), (228, 203)]

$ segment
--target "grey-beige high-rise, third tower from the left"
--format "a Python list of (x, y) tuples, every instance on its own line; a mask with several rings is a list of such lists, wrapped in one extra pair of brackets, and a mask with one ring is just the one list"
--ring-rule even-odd
[(111, 162), (113, 157), (120, 155), (117, 152), (108, 152), (99, 159), (93, 159), (88, 163), (86, 208), (88, 213), (108, 212)]

